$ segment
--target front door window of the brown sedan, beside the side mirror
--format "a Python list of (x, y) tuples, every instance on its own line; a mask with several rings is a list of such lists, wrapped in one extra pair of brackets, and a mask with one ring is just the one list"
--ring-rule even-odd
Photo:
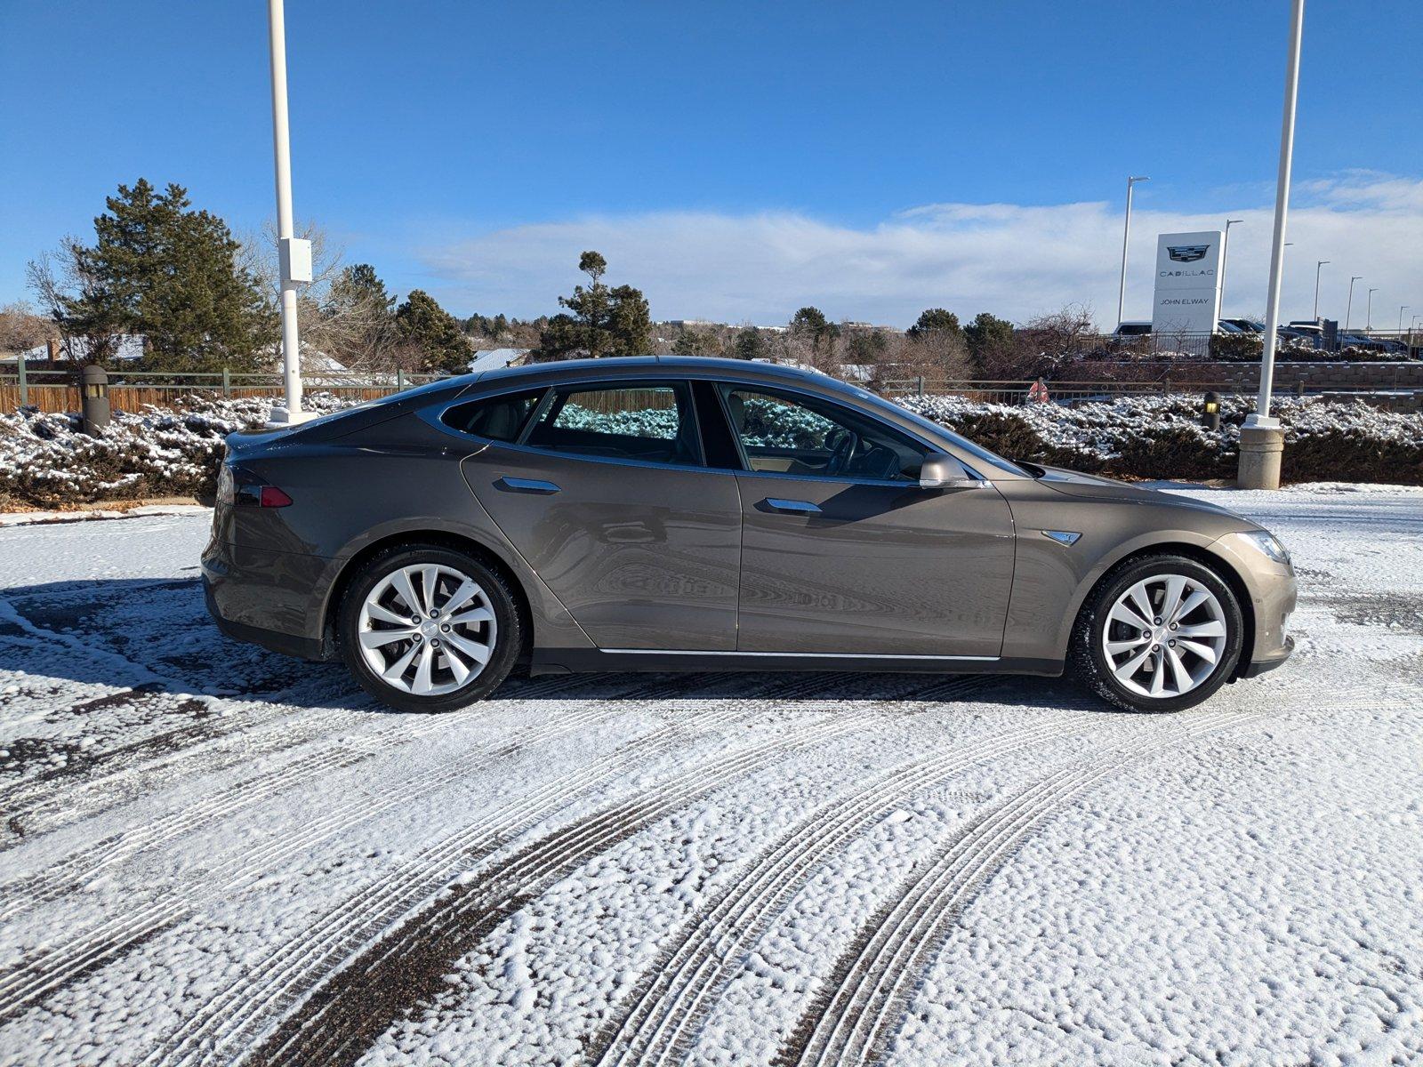
[(830, 401), (723, 386), (731, 427), (753, 471), (808, 478), (919, 481), (928, 448)]

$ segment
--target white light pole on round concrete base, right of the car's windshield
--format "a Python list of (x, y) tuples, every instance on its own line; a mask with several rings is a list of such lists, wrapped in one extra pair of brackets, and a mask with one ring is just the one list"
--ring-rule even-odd
[(1275, 344), (1279, 330), (1279, 283), (1285, 276), (1285, 218), (1289, 213), (1289, 172), (1295, 158), (1295, 102), (1299, 97), (1299, 41), (1305, 33), (1305, 0), (1292, 0), (1289, 60), (1285, 64), (1285, 112), (1279, 129), (1279, 174), (1275, 179), (1275, 233), (1269, 248), (1269, 294), (1265, 303), (1265, 339), (1259, 364), (1259, 398), (1241, 428), (1241, 461), (1237, 484), (1244, 489), (1278, 489), (1279, 458), (1285, 434), (1269, 414), (1275, 384)]

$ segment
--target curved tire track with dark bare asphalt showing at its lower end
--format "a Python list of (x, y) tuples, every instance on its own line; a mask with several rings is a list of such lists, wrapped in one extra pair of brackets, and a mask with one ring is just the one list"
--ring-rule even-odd
[(814, 731), (777, 737), (660, 782), (646, 797), (619, 800), (454, 885), (397, 929), (367, 946), (319, 986), (256, 1050), (253, 1061), (349, 1064), (394, 1021), (447, 989), (445, 976), (502, 920), (568, 872), (659, 819), (784, 755), (859, 730), (878, 718), (841, 713)]

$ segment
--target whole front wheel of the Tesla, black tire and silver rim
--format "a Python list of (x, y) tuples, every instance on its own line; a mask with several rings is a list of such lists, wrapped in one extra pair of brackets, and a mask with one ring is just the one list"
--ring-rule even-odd
[(1073, 627), (1069, 667), (1130, 711), (1180, 711), (1229, 680), (1244, 617), (1229, 585), (1184, 556), (1147, 556), (1107, 575)]

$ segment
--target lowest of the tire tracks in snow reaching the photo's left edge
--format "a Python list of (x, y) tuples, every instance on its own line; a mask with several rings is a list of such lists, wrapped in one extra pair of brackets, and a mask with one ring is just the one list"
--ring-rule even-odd
[[(694, 680), (696, 676), (687, 676), (687, 679)], [(662, 683), (660, 687), (647, 689), (660, 694), (665, 687), (666, 683)], [(633, 694), (619, 697), (613, 703), (636, 699), (635, 690)], [(589, 708), (579, 708), (572, 716), (588, 716), (596, 710), (606, 710), (605, 703), (609, 701), (599, 701)], [(566, 728), (559, 728), (556, 733), (566, 733), (583, 723), (585, 718), (575, 718)], [(539, 734), (538, 740), (545, 738)], [(514, 750), (519, 747), (524, 745), (521, 743), (514, 744)], [(507, 748), (502, 754), (508, 754), (508, 751), (512, 750)], [(499, 753), (497, 751), (495, 754)], [(326, 809), (319, 818), (303, 825), (296, 834), (270, 839), (262, 846), (245, 851), (235, 859), (219, 864), (215, 869), (205, 874), (203, 881), (208, 886), (205, 892), (184, 895), (181, 899), (175, 895), (166, 895), (165, 898), (139, 905), (121, 916), (104, 920), (84, 933), (71, 933), (65, 943), (36, 953), (21, 966), (0, 976), (0, 1020), (13, 1017), (28, 1006), (43, 1002), (90, 972), (118, 959), (139, 940), (154, 936), (159, 930), (201, 911), (206, 903), (219, 901), (243, 885), (262, 878), (269, 872), (272, 865), (300, 855), (320, 841), (349, 829), (371, 815), (417, 800), (433, 788), (440, 788), (467, 777), (478, 770), (490, 755), (488, 750), (467, 753), (445, 763), (437, 775), (431, 777), (425, 774), (418, 780), (407, 781), (387, 790), (380, 797), (369, 797), (360, 792), (353, 800)]]

